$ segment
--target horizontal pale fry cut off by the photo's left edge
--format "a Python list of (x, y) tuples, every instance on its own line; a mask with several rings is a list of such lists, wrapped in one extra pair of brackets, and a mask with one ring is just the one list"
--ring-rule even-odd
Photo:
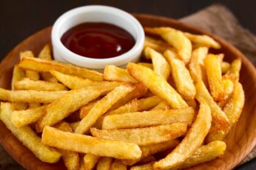
[(27, 103), (52, 103), (68, 91), (5, 90), (0, 88), (0, 100)]

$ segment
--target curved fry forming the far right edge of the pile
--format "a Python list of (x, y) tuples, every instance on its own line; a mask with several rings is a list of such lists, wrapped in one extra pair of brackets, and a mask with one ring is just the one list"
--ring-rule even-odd
[(233, 93), (230, 99), (227, 101), (226, 105), (223, 108), (224, 113), (229, 119), (229, 127), (227, 131), (214, 131), (207, 136), (207, 142), (214, 140), (223, 140), (226, 137), (230, 129), (235, 125), (236, 121), (240, 118), (241, 112), (244, 107), (244, 90), (243, 86), (239, 82), (235, 82)]

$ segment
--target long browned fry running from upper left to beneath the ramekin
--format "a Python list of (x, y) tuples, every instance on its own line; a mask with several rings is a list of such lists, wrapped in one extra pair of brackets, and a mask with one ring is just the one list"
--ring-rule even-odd
[(37, 72), (49, 72), (50, 70), (56, 70), (61, 73), (69, 75), (75, 75), (81, 78), (90, 78), (91, 80), (102, 81), (102, 73), (94, 70), (88, 70), (85, 68), (73, 66), (71, 64), (60, 63), (58, 61), (47, 61), (39, 58), (28, 58), (24, 57), (19, 67), (25, 70), (34, 70)]

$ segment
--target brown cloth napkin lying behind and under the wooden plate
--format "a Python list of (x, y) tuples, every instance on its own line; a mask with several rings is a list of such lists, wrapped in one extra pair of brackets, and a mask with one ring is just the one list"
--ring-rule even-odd
[[(241, 27), (235, 16), (233, 16), (226, 7), (222, 5), (212, 5), (197, 13), (182, 18), (180, 21), (187, 22), (188, 24), (195, 25), (196, 27), (221, 36), (240, 49), (241, 52), (254, 63), (254, 66), (256, 66), (256, 36), (249, 32), (249, 30)], [(256, 157), (255, 148), (242, 163), (254, 157)], [(20, 170), (24, 168), (18, 165), (16, 161), (5, 152), (2, 146), (0, 146), (0, 170), (2, 169)]]

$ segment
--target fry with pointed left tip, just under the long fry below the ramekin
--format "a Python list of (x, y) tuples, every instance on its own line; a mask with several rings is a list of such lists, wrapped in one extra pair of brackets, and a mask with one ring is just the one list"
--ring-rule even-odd
[(116, 82), (116, 81), (93, 81), (90, 79), (80, 78), (74, 75), (67, 75), (61, 72), (57, 72), (55, 70), (50, 71), (51, 74), (57, 78), (61, 83), (65, 84), (69, 89), (81, 89), (88, 86), (96, 86), (96, 87), (104, 87), (114, 89), (117, 86), (120, 86), (124, 83)]

